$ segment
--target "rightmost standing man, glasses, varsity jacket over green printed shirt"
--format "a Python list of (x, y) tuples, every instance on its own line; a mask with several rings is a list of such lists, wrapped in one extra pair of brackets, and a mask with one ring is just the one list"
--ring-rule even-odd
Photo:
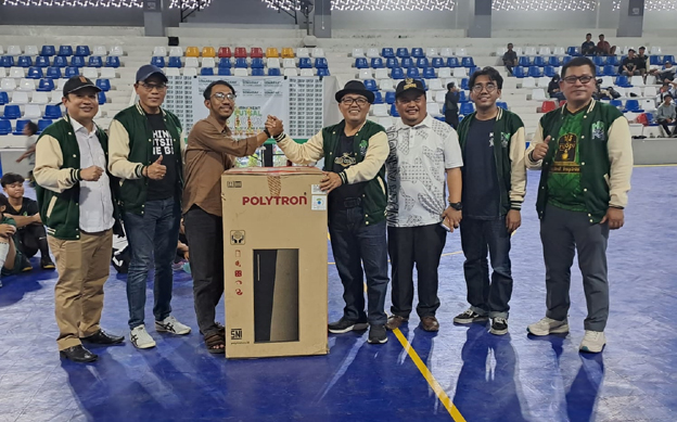
[(609, 230), (623, 227), (633, 171), (627, 119), (595, 101), (595, 64), (575, 57), (562, 67), (566, 105), (540, 118), (526, 150), (528, 168), (541, 168), (536, 209), (546, 264), (546, 318), (528, 325), (533, 335), (567, 333), (571, 267), (578, 267), (588, 307), (582, 351), (602, 351), (609, 318)]

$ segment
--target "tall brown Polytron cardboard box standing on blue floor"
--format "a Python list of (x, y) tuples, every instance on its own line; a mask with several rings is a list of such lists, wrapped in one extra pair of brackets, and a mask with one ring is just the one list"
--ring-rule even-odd
[(321, 179), (315, 167), (221, 177), (227, 358), (328, 353)]

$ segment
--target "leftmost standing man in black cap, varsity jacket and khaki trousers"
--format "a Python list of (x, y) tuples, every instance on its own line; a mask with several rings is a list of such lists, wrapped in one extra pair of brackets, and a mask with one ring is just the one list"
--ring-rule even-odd
[(113, 231), (122, 233), (115, 206), (118, 181), (105, 170), (107, 137), (93, 118), (101, 91), (84, 76), (63, 89), (67, 114), (50, 125), (36, 145), (35, 178), (40, 217), (56, 258), (56, 343), (61, 356), (91, 362), (82, 343), (116, 344), (124, 337), (99, 325), (103, 283), (108, 278)]

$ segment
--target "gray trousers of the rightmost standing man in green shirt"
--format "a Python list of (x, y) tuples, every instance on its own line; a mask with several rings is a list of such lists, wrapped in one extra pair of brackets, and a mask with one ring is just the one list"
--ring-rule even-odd
[(588, 305), (586, 330), (604, 331), (609, 318), (609, 282), (606, 280), (608, 225), (592, 225), (587, 213), (546, 206), (540, 221), (540, 240), (546, 263), (546, 316), (566, 319), (571, 300), (571, 267), (578, 252), (578, 267)]

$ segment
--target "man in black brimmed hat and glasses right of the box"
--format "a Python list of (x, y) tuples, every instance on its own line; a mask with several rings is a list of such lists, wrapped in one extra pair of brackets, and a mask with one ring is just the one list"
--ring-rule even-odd
[[(343, 317), (329, 324), (329, 332), (366, 330), (369, 324), (369, 343), (382, 344), (387, 342), (383, 309), (388, 281), (383, 166), (387, 138), (383, 127), (367, 120), (374, 94), (361, 81), (347, 82), (335, 98), (343, 122), (323, 128), (304, 144), (284, 133), (274, 139), (293, 163), (324, 158), (320, 188), (329, 193), (329, 233), (346, 304)], [(273, 119), (266, 126), (276, 133), (279, 125), (281, 122)], [(367, 276), (367, 315), (362, 271)]]

